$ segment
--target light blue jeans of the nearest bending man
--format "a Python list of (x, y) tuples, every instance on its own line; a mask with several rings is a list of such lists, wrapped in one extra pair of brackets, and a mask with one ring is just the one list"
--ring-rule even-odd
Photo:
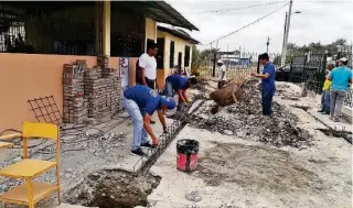
[(122, 106), (129, 113), (132, 125), (133, 125), (133, 140), (132, 140), (132, 151), (140, 149), (141, 144), (148, 142), (147, 131), (143, 128), (143, 114), (145, 112), (137, 106), (137, 103), (131, 99), (126, 99), (122, 97)]

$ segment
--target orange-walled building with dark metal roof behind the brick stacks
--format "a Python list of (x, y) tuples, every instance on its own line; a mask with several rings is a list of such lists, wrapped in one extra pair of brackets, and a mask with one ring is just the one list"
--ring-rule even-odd
[(135, 77), (147, 42), (158, 41), (158, 22), (197, 30), (164, 1), (1, 1), (0, 130), (35, 120), (30, 98), (53, 96), (62, 112), (64, 64), (85, 59), (90, 68), (103, 55), (119, 69), (125, 57)]

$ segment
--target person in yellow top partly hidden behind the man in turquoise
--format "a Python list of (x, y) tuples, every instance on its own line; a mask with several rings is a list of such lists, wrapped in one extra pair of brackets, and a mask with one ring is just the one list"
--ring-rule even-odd
[(330, 114), (330, 108), (331, 108), (330, 88), (331, 88), (332, 81), (328, 79), (328, 76), (333, 68), (334, 68), (334, 64), (330, 63), (328, 64), (328, 69), (324, 72), (325, 80), (323, 83), (323, 89), (322, 89), (323, 91), (321, 96), (321, 110), (319, 110), (319, 112), (323, 114)]

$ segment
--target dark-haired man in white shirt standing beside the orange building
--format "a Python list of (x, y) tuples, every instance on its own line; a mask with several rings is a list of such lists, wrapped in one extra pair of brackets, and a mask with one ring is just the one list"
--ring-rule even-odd
[(154, 83), (157, 78), (157, 61), (156, 55), (158, 47), (156, 43), (147, 45), (147, 53), (143, 53), (137, 63), (136, 83), (156, 89)]

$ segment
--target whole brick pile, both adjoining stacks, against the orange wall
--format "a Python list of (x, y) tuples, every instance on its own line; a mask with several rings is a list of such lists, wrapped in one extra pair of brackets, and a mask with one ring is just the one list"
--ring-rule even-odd
[[(81, 68), (85, 69), (83, 73), (79, 70), (79, 81), (74, 81), (75, 85), (67, 86), (64, 81), (64, 100), (66, 100), (66, 95), (71, 95), (67, 94), (67, 89), (73, 94), (82, 95), (81, 100), (76, 98), (75, 102), (66, 105), (68, 109), (73, 110), (69, 113), (67, 113), (67, 110), (64, 110), (64, 112), (66, 112), (68, 118), (74, 119), (65, 119), (64, 113), (65, 122), (83, 122), (87, 118), (97, 119), (113, 114), (119, 109), (122, 89), (120, 80), (117, 77), (117, 70), (108, 67), (109, 58), (107, 56), (99, 56), (97, 65), (93, 68), (87, 68), (86, 63), (84, 63), (84, 67)], [(76, 65), (71, 66), (76, 67)], [(64, 69), (64, 74), (65, 72)]]

